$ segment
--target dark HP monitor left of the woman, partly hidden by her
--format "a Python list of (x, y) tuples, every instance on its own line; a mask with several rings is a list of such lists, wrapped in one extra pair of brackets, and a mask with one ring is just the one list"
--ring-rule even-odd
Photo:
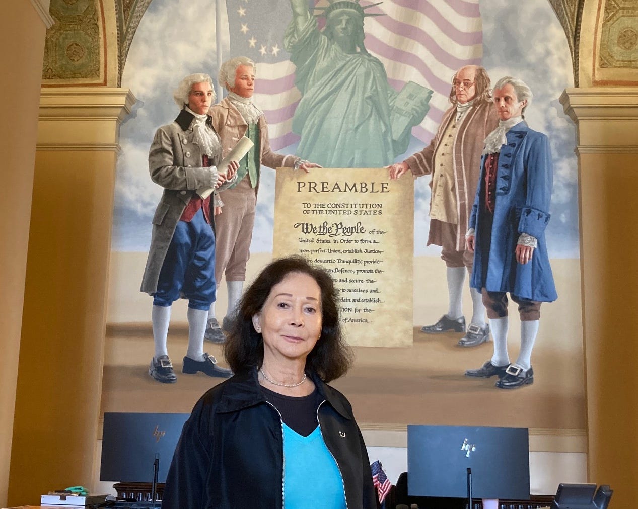
[(166, 482), (168, 467), (188, 413), (104, 414), (100, 480), (152, 482), (159, 455), (158, 482)]

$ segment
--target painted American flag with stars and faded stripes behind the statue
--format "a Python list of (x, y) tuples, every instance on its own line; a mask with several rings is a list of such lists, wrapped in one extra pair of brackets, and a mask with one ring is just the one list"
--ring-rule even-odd
[[(218, 0), (223, 1), (223, 0)], [(334, 0), (309, 0), (315, 15)], [(482, 22), (478, 0), (360, 0), (366, 11), (365, 47), (385, 68), (397, 92), (412, 81), (433, 90), (429, 111), (412, 136), (431, 140), (449, 107), (452, 75), (482, 59)], [(269, 122), (274, 150), (299, 141), (293, 115), (302, 97), (295, 87), (295, 64), (284, 48), (292, 20), (290, 0), (225, 0), (230, 51), (223, 60), (245, 55), (257, 64), (255, 103)], [(318, 17), (319, 29), (325, 19)], [(226, 27), (223, 27), (225, 30)]]

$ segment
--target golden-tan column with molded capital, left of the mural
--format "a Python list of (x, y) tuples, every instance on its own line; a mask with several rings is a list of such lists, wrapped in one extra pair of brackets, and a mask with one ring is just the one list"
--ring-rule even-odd
[(128, 89), (41, 90), (10, 505), (91, 487), (119, 124)]

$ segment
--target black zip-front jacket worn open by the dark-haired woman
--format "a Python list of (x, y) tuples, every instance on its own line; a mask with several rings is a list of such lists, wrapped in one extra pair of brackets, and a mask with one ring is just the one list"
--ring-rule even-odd
[[(318, 421), (341, 471), (348, 509), (376, 508), (366, 446), (352, 407), (341, 392), (311, 378), (325, 399)], [(282, 427), (279, 413), (262, 396), (256, 370), (213, 387), (184, 424), (162, 509), (283, 508)]]

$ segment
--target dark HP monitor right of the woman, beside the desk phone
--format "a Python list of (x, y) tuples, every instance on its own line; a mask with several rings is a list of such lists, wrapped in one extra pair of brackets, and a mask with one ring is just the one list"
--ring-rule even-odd
[(530, 499), (526, 427), (408, 426), (408, 494)]

